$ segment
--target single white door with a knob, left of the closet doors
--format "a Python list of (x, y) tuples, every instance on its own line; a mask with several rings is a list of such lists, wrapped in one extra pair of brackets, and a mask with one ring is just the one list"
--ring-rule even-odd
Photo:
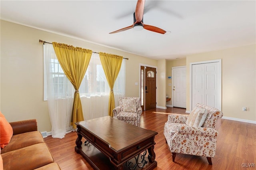
[(172, 68), (173, 106), (186, 108), (186, 67)]

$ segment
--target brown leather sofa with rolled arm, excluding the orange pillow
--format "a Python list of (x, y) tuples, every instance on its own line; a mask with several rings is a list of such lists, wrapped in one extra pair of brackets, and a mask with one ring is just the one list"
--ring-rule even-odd
[(37, 130), (36, 119), (10, 123), (13, 136), (1, 150), (4, 170), (60, 170)]

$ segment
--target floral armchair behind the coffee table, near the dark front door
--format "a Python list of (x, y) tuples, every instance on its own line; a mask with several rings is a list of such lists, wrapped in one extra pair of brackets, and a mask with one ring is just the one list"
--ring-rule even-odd
[(140, 97), (120, 97), (119, 105), (113, 109), (113, 117), (140, 127), (140, 115), (142, 113)]

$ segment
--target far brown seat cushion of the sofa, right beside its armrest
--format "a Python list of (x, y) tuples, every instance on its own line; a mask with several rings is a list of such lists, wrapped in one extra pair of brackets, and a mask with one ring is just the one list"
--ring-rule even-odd
[(2, 153), (10, 152), (37, 143), (44, 143), (44, 138), (39, 131), (26, 132), (12, 136), (10, 143), (2, 149)]

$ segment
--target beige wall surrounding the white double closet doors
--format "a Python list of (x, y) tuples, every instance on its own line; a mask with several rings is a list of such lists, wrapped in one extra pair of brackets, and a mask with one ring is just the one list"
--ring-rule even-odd
[[(224, 117), (256, 121), (256, 45), (247, 45), (186, 57), (186, 108), (190, 108), (190, 63), (222, 59)], [(247, 107), (247, 111), (242, 111)]]

